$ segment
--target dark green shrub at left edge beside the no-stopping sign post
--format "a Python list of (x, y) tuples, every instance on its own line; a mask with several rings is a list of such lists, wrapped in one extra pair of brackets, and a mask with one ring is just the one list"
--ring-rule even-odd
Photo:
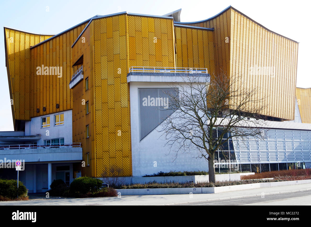
[(28, 198), (28, 190), (21, 181), (0, 179), (0, 197), (2, 199), (16, 199), (16, 197)]

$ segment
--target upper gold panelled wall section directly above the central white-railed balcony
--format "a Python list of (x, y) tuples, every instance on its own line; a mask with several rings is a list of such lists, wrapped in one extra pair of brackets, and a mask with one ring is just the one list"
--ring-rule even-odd
[(173, 20), (128, 16), (129, 67), (175, 67)]

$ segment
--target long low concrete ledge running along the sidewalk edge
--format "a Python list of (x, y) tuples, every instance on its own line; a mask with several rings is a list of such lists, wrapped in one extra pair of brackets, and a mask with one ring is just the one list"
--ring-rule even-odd
[(308, 184), (311, 180), (291, 180), (280, 182), (255, 183), (245, 185), (232, 185), (211, 188), (157, 188), (157, 189), (117, 189), (121, 195), (168, 195), (168, 194), (211, 194), (230, 192), (254, 188), (276, 187), (284, 185)]

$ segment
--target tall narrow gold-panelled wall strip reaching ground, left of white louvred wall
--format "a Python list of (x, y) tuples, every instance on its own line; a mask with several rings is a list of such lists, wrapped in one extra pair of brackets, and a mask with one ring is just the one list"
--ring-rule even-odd
[(126, 15), (94, 20), (97, 177), (115, 167), (132, 175), (126, 33)]

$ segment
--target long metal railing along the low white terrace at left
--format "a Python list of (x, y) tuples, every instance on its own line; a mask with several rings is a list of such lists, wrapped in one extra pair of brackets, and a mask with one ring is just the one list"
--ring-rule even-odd
[(47, 148), (74, 148), (81, 147), (81, 143), (60, 143), (60, 144), (14, 144), (0, 145), (0, 150), (21, 150), (21, 149), (47, 149)]

